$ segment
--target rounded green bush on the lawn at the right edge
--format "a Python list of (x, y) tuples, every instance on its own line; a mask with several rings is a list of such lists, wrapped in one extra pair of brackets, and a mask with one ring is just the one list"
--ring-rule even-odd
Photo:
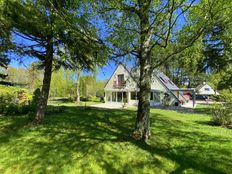
[(232, 128), (232, 103), (215, 104), (212, 109), (212, 121), (215, 125)]

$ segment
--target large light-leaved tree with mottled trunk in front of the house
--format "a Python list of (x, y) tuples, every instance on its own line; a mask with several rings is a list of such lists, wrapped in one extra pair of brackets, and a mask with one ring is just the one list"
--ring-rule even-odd
[[(112, 57), (135, 58), (139, 66), (139, 104), (133, 135), (150, 137), (150, 85), (153, 70), (184, 51), (211, 21), (215, 2), (196, 0), (107, 1), (98, 6), (110, 28)], [(191, 19), (191, 21), (189, 20)], [(185, 21), (187, 20), (187, 21)], [(112, 29), (113, 28), (113, 29)], [(179, 40), (179, 44), (175, 41)]]

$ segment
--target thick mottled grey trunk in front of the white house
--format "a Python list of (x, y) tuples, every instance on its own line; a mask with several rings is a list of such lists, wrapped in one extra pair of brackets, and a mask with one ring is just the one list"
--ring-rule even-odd
[(150, 93), (151, 93), (151, 40), (152, 30), (149, 25), (149, 7), (146, 1), (140, 6), (140, 47), (139, 47), (139, 103), (133, 137), (146, 141), (150, 136)]

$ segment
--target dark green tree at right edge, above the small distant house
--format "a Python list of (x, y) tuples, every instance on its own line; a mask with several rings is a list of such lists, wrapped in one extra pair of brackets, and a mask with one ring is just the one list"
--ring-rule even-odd
[[(179, 54), (181, 61), (176, 62), (176, 66), (188, 78), (189, 87), (196, 87), (206, 80), (220, 89), (228, 88), (226, 84), (230, 84), (226, 79), (230, 79), (232, 63), (232, 3), (229, 1), (225, 4), (224, 1), (218, 0), (213, 5), (214, 8), (209, 13), (212, 22), (193, 47)], [(220, 10), (223, 10), (223, 13), (218, 13)]]

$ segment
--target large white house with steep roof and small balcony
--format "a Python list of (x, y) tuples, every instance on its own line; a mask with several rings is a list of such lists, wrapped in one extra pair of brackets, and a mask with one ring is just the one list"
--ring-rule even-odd
[[(138, 78), (123, 64), (119, 64), (105, 85), (106, 103), (138, 104)], [(150, 105), (179, 106), (185, 98), (179, 93), (178, 87), (162, 72), (154, 71), (151, 83)]]

